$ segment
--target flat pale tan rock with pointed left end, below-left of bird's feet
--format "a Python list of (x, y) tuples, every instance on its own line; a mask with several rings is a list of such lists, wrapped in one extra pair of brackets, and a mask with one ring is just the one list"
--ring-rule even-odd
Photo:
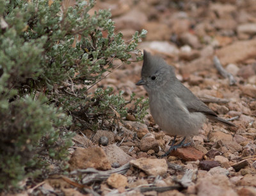
[(163, 176), (168, 169), (168, 165), (164, 159), (139, 158), (137, 160), (131, 160), (130, 164), (152, 176)]

